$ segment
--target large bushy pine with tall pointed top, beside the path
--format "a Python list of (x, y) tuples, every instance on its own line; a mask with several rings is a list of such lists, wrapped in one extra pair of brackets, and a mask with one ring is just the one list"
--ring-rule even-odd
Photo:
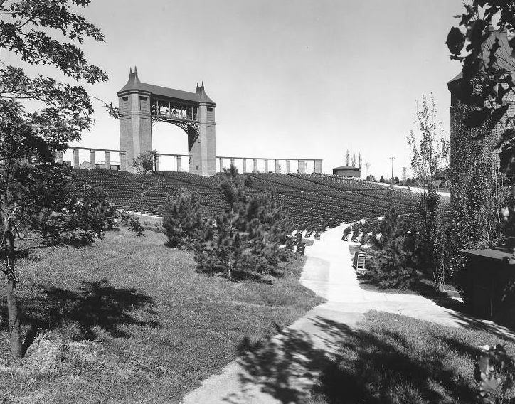
[(270, 193), (247, 196), (244, 185), (235, 181), (237, 170), (225, 172), (221, 188), (228, 208), (206, 222), (195, 246), (195, 260), (201, 272), (221, 272), (229, 279), (279, 275), (285, 260), (280, 241), (284, 211)]

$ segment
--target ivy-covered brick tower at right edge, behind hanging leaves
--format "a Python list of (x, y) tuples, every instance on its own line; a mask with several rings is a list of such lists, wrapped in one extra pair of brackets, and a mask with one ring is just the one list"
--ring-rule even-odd
[[(489, 58), (489, 50), (496, 41), (500, 48), (497, 50), (496, 68), (505, 68), (515, 72), (515, 58), (509, 46), (506, 31), (494, 31), (484, 43), (484, 59)], [(504, 130), (497, 124), (490, 129), (487, 124), (481, 128), (468, 128), (463, 124), (470, 107), (464, 105), (456, 96), (461, 73), (447, 83), (451, 96), (450, 107), (450, 168), (449, 180), (451, 190), (451, 205), (453, 218), (458, 223), (468, 223), (469, 228), (461, 230), (467, 234), (469, 245), (465, 247), (487, 247), (496, 237), (497, 211), (506, 198), (504, 176), (499, 173), (499, 157), (495, 146), (499, 134)], [(515, 113), (515, 97), (506, 98), (511, 102), (508, 114)], [(462, 223), (462, 224), (460, 224)]]

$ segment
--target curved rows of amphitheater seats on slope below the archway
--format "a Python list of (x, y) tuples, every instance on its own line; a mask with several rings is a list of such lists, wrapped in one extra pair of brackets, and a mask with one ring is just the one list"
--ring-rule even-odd
[[(166, 196), (181, 188), (198, 193), (204, 214), (212, 216), (228, 207), (220, 189), (220, 178), (186, 172), (160, 171), (152, 175), (126, 171), (74, 169), (74, 176), (102, 188), (120, 208), (158, 215)], [(218, 174), (220, 175), (220, 174)], [(243, 183), (245, 176), (238, 175)], [(327, 174), (250, 174), (247, 193), (272, 192), (285, 208), (288, 230), (322, 233), (341, 223), (383, 216), (393, 199), (401, 213), (413, 216), (419, 196), (409, 191), (385, 188), (369, 181)], [(442, 201), (445, 220), (449, 204)]]

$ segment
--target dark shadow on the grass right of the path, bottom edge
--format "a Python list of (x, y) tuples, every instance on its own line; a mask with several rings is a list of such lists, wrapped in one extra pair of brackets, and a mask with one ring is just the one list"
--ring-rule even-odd
[[(326, 368), (315, 393), (328, 403), (473, 403), (476, 391), (455, 375), (445, 353), (389, 332), (353, 334)], [(457, 344), (459, 344), (457, 342)]]

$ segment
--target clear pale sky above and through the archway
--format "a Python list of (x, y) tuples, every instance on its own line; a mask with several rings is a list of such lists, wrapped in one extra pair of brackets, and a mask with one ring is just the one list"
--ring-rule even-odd
[[(432, 94), (449, 135), (445, 39), (461, 0), (93, 0), (81, 11), (105, 33), (83, 46), (110, 75), (90, 93), (117, 104), (137, 65), (144, 83), (195, 91), (216, 105), (216, 154), (324, 159), (361, 152), (369, 174), (410, 166), (415, 101)], [(97, 105), (85, 147), (120, 148)], [(154, 148), (187, 153), (186, 134), (154, 127)], [(82, 161), (82, 159), (81, 159)], [(364, 164), (363, 164), (364, 165)], [(363, 169), (364, 174), (364, 169)]]

